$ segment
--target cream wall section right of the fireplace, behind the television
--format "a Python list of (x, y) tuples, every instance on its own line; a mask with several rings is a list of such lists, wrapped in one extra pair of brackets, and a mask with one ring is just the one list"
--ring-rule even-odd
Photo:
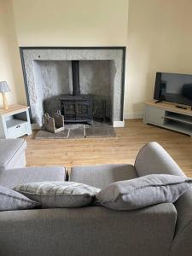
[(156, 71), (192, 73), (192, 1), (130, 0), (125, 117), (152, 100)]

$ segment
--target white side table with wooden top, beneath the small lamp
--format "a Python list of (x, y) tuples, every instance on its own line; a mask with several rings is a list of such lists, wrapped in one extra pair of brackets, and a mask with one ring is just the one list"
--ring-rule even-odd
[(9, 109), (0, 109), (0, 138), (16, 138), (32, 134), (29, 107), (11, 105)]

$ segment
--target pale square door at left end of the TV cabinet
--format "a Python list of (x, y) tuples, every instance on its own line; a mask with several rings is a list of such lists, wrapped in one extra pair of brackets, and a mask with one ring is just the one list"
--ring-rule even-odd
[(148, 108), (147, 122), (154, 125), (164, 124), (165, 110), (159, 108)]

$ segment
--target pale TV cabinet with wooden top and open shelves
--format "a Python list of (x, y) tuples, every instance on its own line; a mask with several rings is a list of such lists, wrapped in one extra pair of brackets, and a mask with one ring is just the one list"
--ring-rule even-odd
[(143, 123), (157, 125), (192, 137), (192, 111), (166, 102), (145, 102)]

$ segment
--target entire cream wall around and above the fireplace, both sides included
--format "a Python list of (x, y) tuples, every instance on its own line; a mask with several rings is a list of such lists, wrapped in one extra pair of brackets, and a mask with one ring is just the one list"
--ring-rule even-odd
[(0, 0), (2, 6), (0, 79), (12, 87), (10, 102), (26, 102), (19, 46), (126, 45), (125, 118), (142, 116), (156, 71), (192, 73), (191, 0)]

